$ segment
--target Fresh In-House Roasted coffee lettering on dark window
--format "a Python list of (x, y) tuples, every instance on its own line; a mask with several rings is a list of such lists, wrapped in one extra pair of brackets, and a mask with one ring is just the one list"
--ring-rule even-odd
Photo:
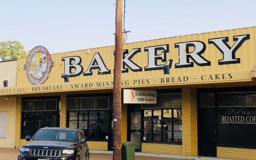
[(225, 111), (221, 123), (256, 124), (256, 111)]

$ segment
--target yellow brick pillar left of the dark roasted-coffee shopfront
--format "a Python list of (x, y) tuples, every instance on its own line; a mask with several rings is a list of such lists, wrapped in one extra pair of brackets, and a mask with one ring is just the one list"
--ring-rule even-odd
[(182, 155), (197, 156), (197, 92), (182, 89)]

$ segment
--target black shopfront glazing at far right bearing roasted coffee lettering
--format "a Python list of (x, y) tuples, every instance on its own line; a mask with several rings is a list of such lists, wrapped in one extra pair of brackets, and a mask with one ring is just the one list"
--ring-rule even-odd
[(255, 148), (256, 92), (251, 87), (202, 89), (198, 123), (201, 151), (210, 141), (213, 149), (215, 145)]

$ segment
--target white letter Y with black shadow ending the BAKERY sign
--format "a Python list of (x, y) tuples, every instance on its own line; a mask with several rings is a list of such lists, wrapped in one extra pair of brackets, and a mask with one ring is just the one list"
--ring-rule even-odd
[(209, 39), (209, 44), (214, 44), (220, 52), (223, 54), (223, 59), (219, 60), (219, 65), (240, 63), (240, 58), (236, 58), (236, 51), (244, 43), (245, 40), (250, 39), (250, 35), (237, 35), (233, 37), (233, 41), (236, 41), (232, 47), (228, 42), (228, 37)]

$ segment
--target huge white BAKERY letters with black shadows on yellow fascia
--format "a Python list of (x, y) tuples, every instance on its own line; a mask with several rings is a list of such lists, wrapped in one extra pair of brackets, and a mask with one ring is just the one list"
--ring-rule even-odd
[[(228, 37), (212, 38), (208, 40), (209, 44), (215, 45), (215, 47), (222, 53), (223, 59), (218, 61), (219, 65), (240, 63), (240, 58), (236, 57), (236, 51), (244, 43), (245, 40), (250, 39), (250, 35), (236, 35), (233, 36), (233, 45), (228, 45)], [(175, 68), (193, 67), (194, 63), (198, 66), (210, 66), (211, 62), (204, 58), (202, 55), (206, 49), (206, 45), (202, 41), (189, 41), (175, 43), (175, 48), (179, 49), (179, 61), (175, 64)], [(193, 47), (193, 50), (189, 50), (189, 47)], [(143, 71), (142, 66), (136, 64), (131, 59), (134, 55), (141, 52), (141, 48), (134, 48), (132, 50), (123, 50), (122, 52), (122, 73), (128, 72), (129, 69), (133, 72)], [(144, 48), (144, 52), (148, 53), (148, 66), (144, 67), (144, 71), (161, 70), (163, 66), (172, 66), (172, 59), (167, 59), (167, 53), (169, 53), (169, 44), (148, 46)], [(161, 52), (161, 54), (157, 54)], [(126, 55), (126, 56), (125, 56)], [(189, 60), (193, 62), (190, 62)], [(165, 64), (158, 64), (157, 61), (161, 60)], [(100, 56), (100, 53), (95, 53), (89, 67), (84, 71), (81, 65), (82, 58), (79, 56), (63, 57), (64, 61), (64, 75), (69, 77), (79, 76), (83, 73), (84, 76), (91, 76), (92, 70), (98, 69), (98, 74), (111, 74), (111, 70), (106, 67), (104, 60)], [(72, 69), (75, 71), (71, 72)]]

